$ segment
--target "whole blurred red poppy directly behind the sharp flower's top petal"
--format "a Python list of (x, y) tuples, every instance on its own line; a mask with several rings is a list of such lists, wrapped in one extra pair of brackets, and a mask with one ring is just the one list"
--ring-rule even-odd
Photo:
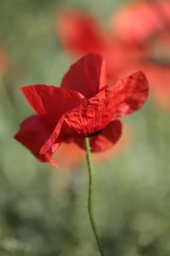
[(56, 16), (56, 32), (64, 50), (82, 56), (99, 53), (106, 61), (107, 78), (117, 81), (130, 63), (136, 65), (137, 58), (145, 58), (150, 49), (130, 47), (105, 31), (97, 18), (90, 13), (73, 10), (60, 11)]

